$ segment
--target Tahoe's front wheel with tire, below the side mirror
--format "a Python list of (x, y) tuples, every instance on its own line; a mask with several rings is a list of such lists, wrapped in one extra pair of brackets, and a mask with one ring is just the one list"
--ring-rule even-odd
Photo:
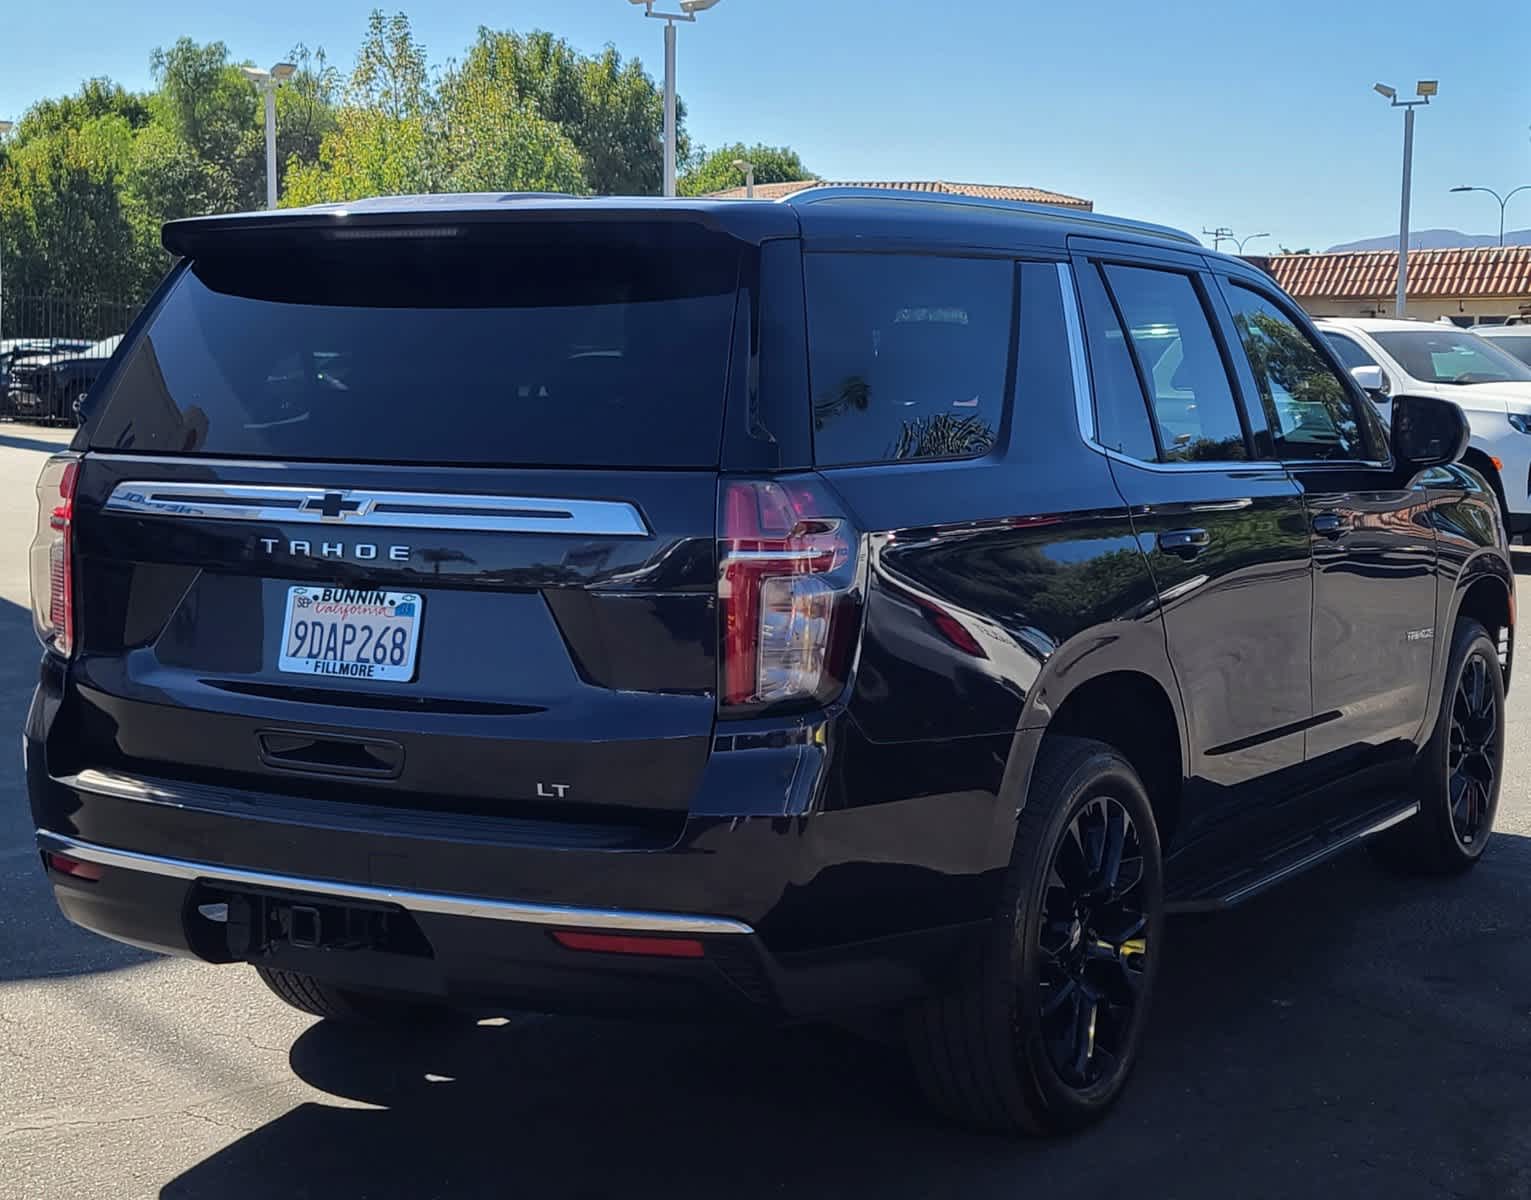
[(1373, 839), (1405, 874), (1447, 876), (1476, 863), (1494, 831), (1505, 762), (1505, 677), (1488, 631), (1464, 617), (1451, 635), (1435, 732), (1419, 752), (1419, 811)]

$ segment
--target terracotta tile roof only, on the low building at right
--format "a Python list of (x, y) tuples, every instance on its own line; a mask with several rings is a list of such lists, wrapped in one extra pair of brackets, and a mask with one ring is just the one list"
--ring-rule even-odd
[[(1386, 300), (1398, 289), (1398, 254), (1277, 254), (1263, 263), (1297, 298)], [(1451, 298), (1531, 295), (1531, 246), (1409, 251), (1409, 294)]]

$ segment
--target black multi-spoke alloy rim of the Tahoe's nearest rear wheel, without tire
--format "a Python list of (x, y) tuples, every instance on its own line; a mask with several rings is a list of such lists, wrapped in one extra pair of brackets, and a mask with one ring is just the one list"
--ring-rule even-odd
[(1121, 1070), (1148, 963), (1138, 827), (1110, 796), (1075, 816), (1043, 895), (1041, 1018), (1058, 1078), (1093, 1088)]

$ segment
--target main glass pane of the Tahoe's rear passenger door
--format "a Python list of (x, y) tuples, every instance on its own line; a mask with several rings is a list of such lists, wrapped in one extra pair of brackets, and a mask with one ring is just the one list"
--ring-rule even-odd
[(1107, 266), (1105, 276), (1148, 387), (1160, 458), (1248, 458), (1228, 369), (1191, 277), (1142, 266)]

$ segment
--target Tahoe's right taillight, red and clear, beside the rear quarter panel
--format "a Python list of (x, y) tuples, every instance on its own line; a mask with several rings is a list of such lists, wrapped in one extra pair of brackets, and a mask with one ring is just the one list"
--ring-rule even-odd
[(833, 698), (860, 618), (859, 539), (822, 484), (726, 481), (718, 519), (720, 706)]

